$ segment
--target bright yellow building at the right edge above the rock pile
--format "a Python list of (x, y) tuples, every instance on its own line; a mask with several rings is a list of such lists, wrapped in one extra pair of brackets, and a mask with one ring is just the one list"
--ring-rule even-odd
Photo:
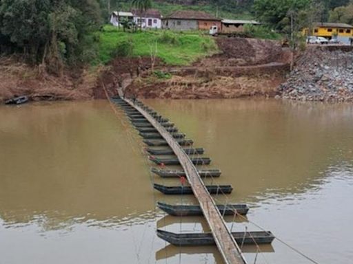
[(353, 37), (353, 25), (345, 23), (313, 23), (312, 32), (305, 28), (305, 36), (323, 36), (332, 39), (333, 36), (350, 38)]

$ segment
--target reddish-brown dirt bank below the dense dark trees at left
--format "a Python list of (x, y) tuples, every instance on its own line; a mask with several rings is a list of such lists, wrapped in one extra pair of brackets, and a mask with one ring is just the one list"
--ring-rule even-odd
[(94, 98), (99, 69), (46, 74), (17, 58), (0, 58), (0, 102), (26, 95), (31, 100), (89, 100)]

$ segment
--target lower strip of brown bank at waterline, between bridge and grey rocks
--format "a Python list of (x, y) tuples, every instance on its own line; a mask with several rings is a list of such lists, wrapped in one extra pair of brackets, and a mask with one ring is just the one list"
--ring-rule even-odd
[(127, 94), (138, 94), (142, 98), (203, 99), (239, 98), (244, 96), (275, 96), (279, 83), (283, 80), (275, 75), (267, 78), (255, 76), (214, 76), (213, 78), (194, 76), (173, 76), (170, 80), (155, 80), (149, 85), (135, 80)]

